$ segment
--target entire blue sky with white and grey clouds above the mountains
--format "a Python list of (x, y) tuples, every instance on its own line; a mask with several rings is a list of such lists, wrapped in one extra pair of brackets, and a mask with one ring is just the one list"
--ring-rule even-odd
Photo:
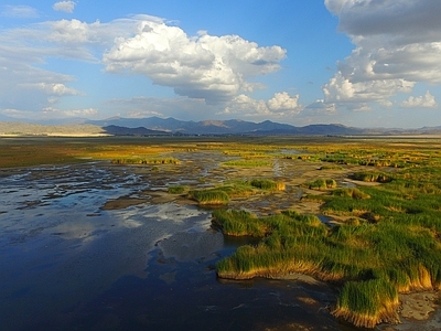
[(441, 126), (439, 0), (0, 3), (0, 120)]

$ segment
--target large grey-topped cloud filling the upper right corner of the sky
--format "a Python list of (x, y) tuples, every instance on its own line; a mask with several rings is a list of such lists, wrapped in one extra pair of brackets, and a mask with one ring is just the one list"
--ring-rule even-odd
[(440, 84), (441, 2), (325, 0), (355, 49), (323, 86), (325, 102), (390, 104), (420, 82)]

